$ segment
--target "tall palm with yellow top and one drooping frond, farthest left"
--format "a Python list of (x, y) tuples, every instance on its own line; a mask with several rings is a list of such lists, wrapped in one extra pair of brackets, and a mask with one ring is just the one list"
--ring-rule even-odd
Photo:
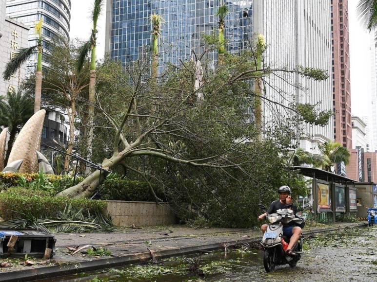
[(20, 67), (25, 63), (31, 55), (38, 50), (38, 63), (37, 63), (37, 71), (35, 76), (35, 98), (34, 98), (34, 112), (38, 112), (40, 110), (40, 93), (42, 90), (42, 18), (40, 21), (35, 25), (36, 34), (39, 35), (38, 37), (38, 44), (28, 48), (20, 49), (20, 52), (11, 59), (6, 68), (3, 72), (4, 80), (9, 80), (10, 77), (16, 73), (20, 69)]

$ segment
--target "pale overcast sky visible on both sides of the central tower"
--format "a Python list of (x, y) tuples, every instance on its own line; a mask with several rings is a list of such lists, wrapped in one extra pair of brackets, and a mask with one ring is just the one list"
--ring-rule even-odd
[[(368, 115), (370, 109), (370, 63), (369, 34), (364, 31), (357, 20), (356, 6), (358, 0), (349, 0), (349, 31), (350, 31), (350, 72), (352, 114), (360, 117)], [(105, 10), (106, 0), (98, 22), (97, 57), (104, 56), (105, 43)], [(93, 0), (73, 0), (71, 18), (71, 38), (88, 40), (92, 30), (90, 13)], [(331, 76), (330, 76), (331, 79)]]

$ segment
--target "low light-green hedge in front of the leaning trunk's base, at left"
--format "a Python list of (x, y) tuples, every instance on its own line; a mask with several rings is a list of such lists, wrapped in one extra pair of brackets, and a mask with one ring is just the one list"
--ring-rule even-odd
[(106, 203), (85, 198), (52, 197), (48, 191), (25, 189), (22, 187), (8, 188), (0, 193), (0, 216), (4, 220), (30, 214), (36, 218), (56, 218), (67, 204), (72, 208), (84, 208), (85, 212), (94, 214), (102, 212)]

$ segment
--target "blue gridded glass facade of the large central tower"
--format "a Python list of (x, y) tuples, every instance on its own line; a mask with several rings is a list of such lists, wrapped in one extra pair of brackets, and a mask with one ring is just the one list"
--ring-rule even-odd
[[(253, 33), (252, 0), (226, 1), (225, 38), (228, 52), (246, 49), (247, 36)], [(159, 38), (160, 60), (175, 63), (189, 59), (191, 50), (200, 53), (203, 33), (218, 33), (219, 0), (112, 0), (109, 54), (123, 65), (138, 59), (143, 48), (151, 44), (149, 17), (157, 13), (165, 19)], [(209, 54), (217, 60), (217, 51)], [(164, 64), (159, 64), (160, 70)]]

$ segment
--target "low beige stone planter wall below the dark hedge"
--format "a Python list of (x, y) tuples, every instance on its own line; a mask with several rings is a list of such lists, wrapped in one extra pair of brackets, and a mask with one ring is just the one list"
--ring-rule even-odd
[(176, 223), (169, 204), (155, 202), (106, 201), (107, 210), (115, 226), (167, 225)]

